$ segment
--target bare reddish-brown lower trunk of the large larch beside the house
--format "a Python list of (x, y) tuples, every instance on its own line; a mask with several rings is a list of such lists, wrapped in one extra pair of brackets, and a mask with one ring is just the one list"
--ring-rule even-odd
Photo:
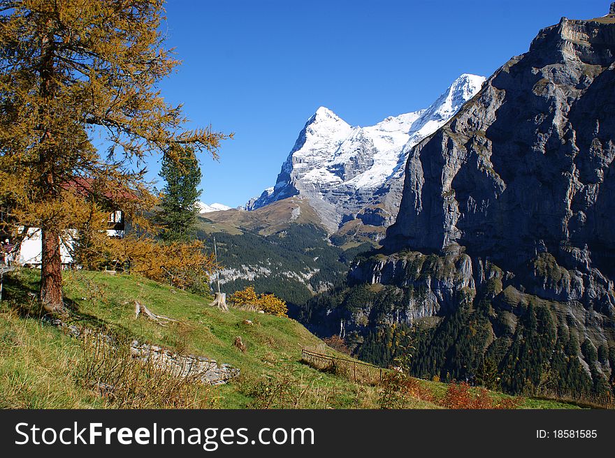
[(45, 228), (41, 231), (41, 304), (49, 313), (64, 313), (59, 233)]

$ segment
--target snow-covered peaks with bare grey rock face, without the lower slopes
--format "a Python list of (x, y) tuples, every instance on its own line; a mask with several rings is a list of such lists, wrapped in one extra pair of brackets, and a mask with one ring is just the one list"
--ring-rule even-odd
[(484, 77), (461, 75), (426, 110), (352, 127), (321, 107), (299, 133), (273, 188), (251, 200), (258, 209), (293, 195), (310, 200), (321, 222), (335, 232), (357, 217), (389, 226), (397, 214), (407, 154), (480, 89)]

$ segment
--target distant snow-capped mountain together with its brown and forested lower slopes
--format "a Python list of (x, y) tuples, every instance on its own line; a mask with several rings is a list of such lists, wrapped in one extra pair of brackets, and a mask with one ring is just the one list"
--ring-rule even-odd
[(479, 91), (461, 75), (428, 108), (352, 127), (321, 107), (298, 135), (277, 183), (243, 209), (201, 205), (199, 234), (216, 237), (227, 290), (254, 285), (291, 305), (345, 281), (357, 253), (379, 246), (395, 220), (405, 162)]

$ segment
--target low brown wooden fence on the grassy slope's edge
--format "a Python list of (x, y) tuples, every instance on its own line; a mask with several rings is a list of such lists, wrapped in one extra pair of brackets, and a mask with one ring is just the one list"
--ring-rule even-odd
[(336, 374), (356, 383), (379, 385), (382, 382), (382, 367), (367, 362), (323, 355), (310, 350), (301, 350), (301, 361), (323, 372)]

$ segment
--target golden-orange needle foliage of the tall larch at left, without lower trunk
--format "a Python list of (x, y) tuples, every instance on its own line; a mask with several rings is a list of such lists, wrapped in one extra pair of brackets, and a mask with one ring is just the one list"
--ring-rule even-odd
[[(157, 89), (180, 64), (165, 49), (159, 29), (163, 0), (14, 4), (0, 24), (0, 50), (6, 54), (0, 70), (0, 92), (6, 94), (0, 149), (13, 157), (27, 152), (17, 165), (31, 175), (61, 181), (99, 175), (103, 160), (89, 145), (93, 133), (117, 145), (108, 163), (122, 162), (124, 172), (131, 159), (176, 144), (216, 157), (220, 142), (232, 137), (210, 127), (187, 128), (181, 105), (169, 105)], [(31, 180), (31, 187), (36, 183)]]

